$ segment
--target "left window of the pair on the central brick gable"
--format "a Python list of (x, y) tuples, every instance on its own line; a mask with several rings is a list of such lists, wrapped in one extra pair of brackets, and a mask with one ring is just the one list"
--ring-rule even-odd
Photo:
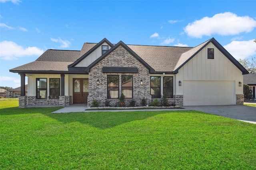
[(117, 99), (119, 90), (119, 76), (108, 75), (108, 99)]

